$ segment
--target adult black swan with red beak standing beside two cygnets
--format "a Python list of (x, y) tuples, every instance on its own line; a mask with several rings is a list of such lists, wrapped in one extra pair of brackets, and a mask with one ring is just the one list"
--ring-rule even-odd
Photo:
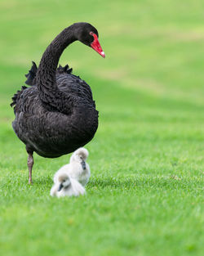
[(12, 127), (24, 142), (32, 181), (33, 152), (47, 158), (65, 155), (86, 145), (98, 128), (98, 111), (89, 85), (71, 74), (68, 65), (57, 68), (70, 43), (79, 40), (104, 57), (97, 30), (80, 22), (64, 29), (47, 47), (39, 67), (33, 62), (25, 83), (12, 97), (16, 119)]

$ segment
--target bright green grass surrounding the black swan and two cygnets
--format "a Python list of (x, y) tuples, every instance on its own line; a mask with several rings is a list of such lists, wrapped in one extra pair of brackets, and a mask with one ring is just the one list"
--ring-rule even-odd
[[(204, 3), (0, 2), (0, 255), (202, 255)], [(100, 127), (86, 196), (49, 195), (69, 161), (27, 154), (11, 97), (64, 27), (88, 21), (107, 58), (74, 43), (60, 63), (91, 85)]]

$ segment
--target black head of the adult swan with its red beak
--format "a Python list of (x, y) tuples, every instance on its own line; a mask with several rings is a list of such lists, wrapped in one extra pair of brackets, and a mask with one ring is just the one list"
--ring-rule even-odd
[(98, 52), (100, 56), (105, 57), (104, 51), (100, 47), (99, 34), (97, 29), (91, 24), (86, 22), (79, 22), (74, 24), (77, 29), (74, 30), (74, 34), (78, 40), (89, 47), (92, 47), (95, 52)]

